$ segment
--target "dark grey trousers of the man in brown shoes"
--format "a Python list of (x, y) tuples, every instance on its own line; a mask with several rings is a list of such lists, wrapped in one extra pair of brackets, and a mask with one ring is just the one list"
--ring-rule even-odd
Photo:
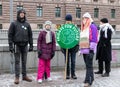
[(22, 76), (26, 76), (26, 62), (27, 62), (27, 46), (17, 46), (15, 47), (15, 76), (20, 75), (20, 60), (22, 65)]

